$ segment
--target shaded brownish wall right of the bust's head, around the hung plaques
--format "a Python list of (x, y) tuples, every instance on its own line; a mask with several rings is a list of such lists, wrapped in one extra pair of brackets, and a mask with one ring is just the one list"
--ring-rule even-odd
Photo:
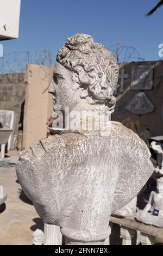
[[(148, 85), (152, 84), (152, 89), (136, 89), (131, 90), (131, 77), (132, 70), (136, 70), (137, 67), (142, 65), (153, 65), (153, 75), (147, 75), (146, 72), (137, 72), (136, 78), (138, 79), (142, 77), (142, 83)], [(122, 74), (122, 69), (124, 69), (124, 74)], [(120, 121), (121, 123), (127, 123), (128, 120), (133, 123), (133, 126), (138, 124), (139, 131), (143, 133), (150, 133), (149, 136), (159, 136), (162, 135), (163, 131), (163, 61), (159, 60), (157, 62), (131, 62), (131, 63), (123, 63), (120, 64), (120, 78), (118, 80), (118, 84), (122, 83), (122, 77), (124, 81), (124, 90), (123, 86), (117, 89), (117, 96), (116, 96), (116, 108), (115, 112), (112, 114), (111, 120), (113, 121)], [(144, 77), (144, 78), (143, 78)], [(142, 84), (141, 83), (141, 84)], [(150, 86), (149, 86), (150, 87)], [(142, 88), (144, 88), (142, 86)], [(120, 92), (121, 89), (121, 92)], [(122, 93), (123, 90), (123, 93)], [(151, 113), (146, 114), (134, 114), (132, 112), (127, 111), (126, 106), (130, 102), (133, 97), (139, 93), (143, 92), (146, 94), (148, 99), (154, 105), (154, 111)], [(142, 106), (142, 105), (141, 105)], [(125, 125), (125, 124), (124, 124)], [(132, 129), (130, 127), (130, 129)], [(135, 131), (136, 132), (136, 131)], [(140, 136), (140, 135), (139, 135)], [(140, 136), (141, 137), (141, 136)]]

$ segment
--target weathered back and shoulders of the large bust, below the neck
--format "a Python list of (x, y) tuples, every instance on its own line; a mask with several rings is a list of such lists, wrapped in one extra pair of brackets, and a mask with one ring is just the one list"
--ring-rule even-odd
[(82, 230), (91, 241), (152, 174), (149, 157), (134, 132), (111, 122), (107, 139), (63, 133), (42, 140), (21, 156), (17, 176), (45, 223)]

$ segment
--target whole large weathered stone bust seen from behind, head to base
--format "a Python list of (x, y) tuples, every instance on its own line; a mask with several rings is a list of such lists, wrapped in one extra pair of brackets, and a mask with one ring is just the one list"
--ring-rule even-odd
[[(54, 111), (65, 107), (95, 113), (98, 129), (68, 127), (41, 139), (24, 152), (18, 180), (47, 224), (61, 227), (67, 245), (102, 245), (110, 235), (109, 218), (128, 204), (153, 172), (151, 154), (139, 136), (115, 121), (101, 133), (101, 112), (114, 111), (118, 65), (113, 54), (90, 35), (67, 39), (57, 54), (49, 86)], [(76, 121), (77, 121), (76, 119)], [(82, 119), (83, 120), (83, 119)]]

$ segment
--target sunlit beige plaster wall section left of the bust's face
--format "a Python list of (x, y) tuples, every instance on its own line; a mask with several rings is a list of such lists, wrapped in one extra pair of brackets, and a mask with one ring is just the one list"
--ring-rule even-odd
[(28, 64), (26, 70), (23, 149), (29, 149), (40, 139), (46, 138), (47, 119), (53, 112), (52, 95), (47, 91), (53, 67)]

